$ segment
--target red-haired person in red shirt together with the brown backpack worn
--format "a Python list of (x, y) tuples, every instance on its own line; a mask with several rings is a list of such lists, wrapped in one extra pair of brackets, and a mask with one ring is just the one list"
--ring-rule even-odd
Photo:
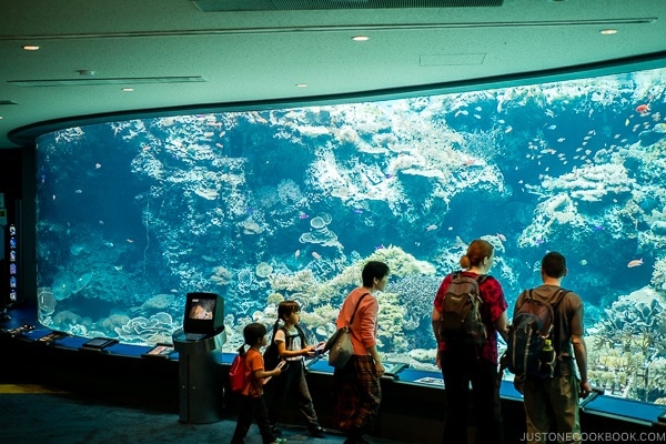
[(438, 345), (436, 363), (444, 376), (446, 444), (467, 444), (468, 425), (476, 426), (480, 444), (504, 442), (497, 333), (506, 339), (507, 303), (500, 282), (487, 275), (493, 251), (490, 242), (473, 241), (461, 258), (464, 271), (446, 275), (434, 301), (432, 322)]

